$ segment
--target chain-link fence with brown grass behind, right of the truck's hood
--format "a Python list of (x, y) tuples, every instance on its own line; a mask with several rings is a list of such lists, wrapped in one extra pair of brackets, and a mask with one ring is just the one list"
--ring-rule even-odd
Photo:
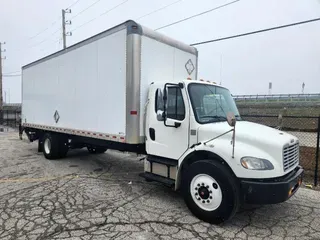
[(318, 184), (320, 116), (242, 115), (243, 120), (263, 124), (288, 132), (299, 139), (300, 165), (305, 169), (306, 180)]

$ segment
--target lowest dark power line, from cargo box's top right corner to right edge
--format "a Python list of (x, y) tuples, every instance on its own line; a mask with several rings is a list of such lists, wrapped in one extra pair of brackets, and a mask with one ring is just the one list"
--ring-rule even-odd
[(273, 31), (273, 30), (277, 30), (277, 29), (281, 29), (281, 28), (293, 27), (293, 26), (302, 25), (302, 24), (311, 23), (311, 22), (317, 22), (317, 21), (320, 21), (320, 18), (314, 18), (314, 19), (310, 19), (310, 20), (306, 20), (306, 21), (302, 21), (302, 22), (295, 22), (295, 23), (281, 25), (281, 26), (277, 26), (277, 27), (261, 29), (261, 30), (257, 30), (257, 31), (253, 31), (253, 32), (237, 34), (237, 35), (233, 35), (233, 36), (229, 36), (229, 37), (223, 37), (223, 38), (217, 38), (217, 39), (213, 39), (213, 40), (207, 40), (207, 41), (203, 41), (203, 42), (193, 43), (193, 44), (191, 44), (191, 46), (207, 44), (207, 43), (212, 43), (212, 42), (219, 42), (219, 41), (228, 40), (228, 39), (232, 39), (232, 38), (244, 37), (244, 36), (253, 35), (253, 34), (257, 34), (257, 33), (268, 32), (268, 31)]

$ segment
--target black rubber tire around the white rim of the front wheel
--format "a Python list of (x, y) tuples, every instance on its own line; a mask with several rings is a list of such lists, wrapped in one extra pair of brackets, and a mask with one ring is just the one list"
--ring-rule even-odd
[[(199, 207), (191, 195), (193, 193), (190, 191), (190, 184), (198, 174), (209, 175), (220, 187), (222, 201), (213, 211)], [(215, 185), (215, 187), (217, 186)], [(186, 169), (186, 172), (183, 173), (183, 194), (189, 210), (199, 219), (213, 224), (219, 224), (231, 219), (240, 205), (239, 187), (235, 177), (224, 164), (214, 160), (197, 161)]]

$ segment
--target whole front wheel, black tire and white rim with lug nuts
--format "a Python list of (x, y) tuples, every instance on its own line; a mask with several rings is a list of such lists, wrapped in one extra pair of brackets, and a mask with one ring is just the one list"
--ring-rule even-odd
[(199, 219), (219, 224), (239, 208), (239, 188), (229, 169), (214, 160), (197, 161), (183, 177), (184, 200)]

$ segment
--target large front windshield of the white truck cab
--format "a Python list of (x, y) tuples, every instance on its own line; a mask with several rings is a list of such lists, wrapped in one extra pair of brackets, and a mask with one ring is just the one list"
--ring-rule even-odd
[(192, 108), (199, 123), (227, 120), (229, 112), (241, 120), (237, 106), (228, 89), (206, 84), (192, 83), (188, 87)]

